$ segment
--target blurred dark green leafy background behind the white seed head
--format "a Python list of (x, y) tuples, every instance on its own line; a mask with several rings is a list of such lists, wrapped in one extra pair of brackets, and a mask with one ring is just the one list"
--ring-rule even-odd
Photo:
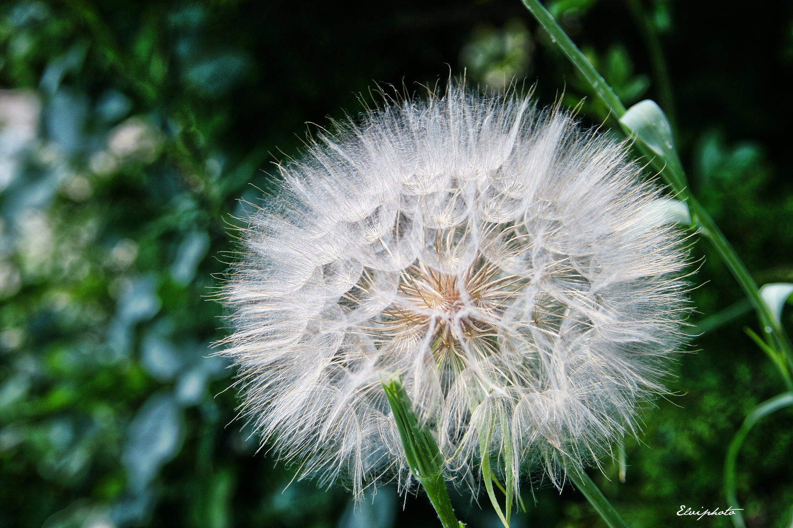
[[(759, 283), (793, 282), (789, 3), (548, 3), (626, 104), (673, 101), (694, 192)], [(375, 82), (412, 91), (464, 68), (490, 89), (536, 80), (542, 104), (588, 95), (517, 1), (3, 2), (0, 525), (437, 526), (425, 497), (386, 487), (354, 509), (257, 454), (234, 421), (232, 370), (212, 355), (225, 332), (213, 294), (232, 227), (277, 185), (269, 164), (299, 151), (306, 122), (354, 115)], [(579, 112), (607, 120), (592, 97)], [(741, 293), (691, 245), (705, 317)], [(783, 389), (743, 325), (755, 322), (681, 357), (677, 395), (626, 439), (626, 483), (615, 465), (593, 472), (630, 526), (730, 526), (675, 514), (726, 507), (727, 444)], [(790, 522), (791, 431), (791, 410), (777, 412), (741, 451), (749, 526)], [(570, 488), (524, 493), (514, 526), (602, 526)], [(469, 526), (499, 526), (453, 500)]]

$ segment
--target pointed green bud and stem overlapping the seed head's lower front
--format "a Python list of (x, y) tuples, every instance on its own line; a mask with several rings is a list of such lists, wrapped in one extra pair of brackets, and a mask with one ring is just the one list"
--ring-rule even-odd
[(460, 528), (463, 526), (462, 522), (459, 522), (454, 516), (449, 492), (446, 491), (446, 479), (443, 477), (441, 466), (442, 455), (438, 444), (435, 443), (431, 431), (423, 424), (419, 424), (416, 414), (413, 413), (413, 404), (402, 386), (400, 377), (395, 376), (388, 382), (382, 383), (385, 396), (388, 397), (389, 405), (391, 405), (394, 420), (397, 422), (404, 455), (408, 459), (408, 467), (424, 491), (427, 492), (443, 528)]

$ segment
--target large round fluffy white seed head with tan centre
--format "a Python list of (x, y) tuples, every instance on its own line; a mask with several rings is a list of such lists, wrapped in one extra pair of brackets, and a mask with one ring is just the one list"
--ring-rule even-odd
[(450, 480), (488, 457), (515, 489), (561, 484), (664, 391), (686, 257), (624, 144), (450, 89), (336, 123), (280, 174), (224, 289), (224, 354), (300, 477), (408, 484), (394, 374)]

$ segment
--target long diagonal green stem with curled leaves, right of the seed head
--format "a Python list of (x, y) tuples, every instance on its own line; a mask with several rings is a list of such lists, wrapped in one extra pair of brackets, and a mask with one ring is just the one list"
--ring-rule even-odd
[[(617, 118), (622, 117), (626, 110), (623, 103), (619, 101), (619, 97), (617, 97), (611, 87), (606, 84), (603, 77), (600, 76), (597, 70), (595, 70), (595, 67), (592, 66), (592, 63), (581, 53), (576, 44), (573, 44), (573, 40), (570, 40), (570, 37), (567, 36), (564, 30), (557, 24), (554, 17), (548, 13), (548, 10), (542, 6), (539, 0), (522, 0), (522, 2), (523, 5), (531, 11), (542, 27), (549, 32), (551, 38), (567, 56), (570, 62), (577, 67), (580, 74), (584, 77), (586, 82), (588, 82), (590, 88), (597, 97), (600, 97), (603, 103), (611, 110), (612, 114)], [(623, 128), (625, 128), (627, 135), (633, 135), (624, 125)], [(692, 220), (699, 226), (700, 232), (711, 241), (718, 254), (722, 256), (722, 260), (724, 260), (727, 268), (730, 269), (737, 283), (749, 298), (749, 302), (752, 303), (752, 306), (757, 312), (757, 319), (760, 322), (760, 328), (763, 331), (765, 340), (773, 348), (781, 351), (786, 357), (787, 363), (793, 366), (793, 350), (791, 350), (790, 340), (787, 339), (782, 326), (774, 320), (768, 306), (766, 306), (763, 299), (760, 298), (760, 291), (757, 288), (757, 283), (754, 282), (752, 275), (749, 275), (749, 270), (746, 269), (741, 259), (737, 256), (735, 249), (733, 249), (730, 242), (726, 240), (722, 231), (718, 229), (711, 215), (708, 215), (702, 204), (691, 195), (686, 184), (685, 174), (682, 173), (682, 169), (680, 169), (676, 159), (672, 159), (672, 157), (667, 154), (657, 154), (653, 152), (653, 150), (650, 150), (649, 146), (639, 138), (635, 138), (634, 146), (642, 154), (647, 156), (649, 165), (659, 173), (666, 184), (672, 188), (672, 191), (674, 191), (680, 199), (688, 203), (688, 209), (691, 211)]]

